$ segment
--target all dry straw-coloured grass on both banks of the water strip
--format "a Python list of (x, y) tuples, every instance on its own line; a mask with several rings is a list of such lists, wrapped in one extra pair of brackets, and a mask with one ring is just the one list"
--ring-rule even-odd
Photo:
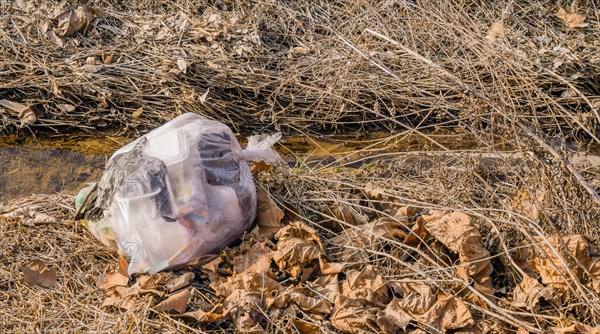
[[(494, 268), (494, 296), (482, 303), (465, 298), (481, 326), (497, 332), (598, 326), (598, 295), (587, 285), (592, 273), (573, 276), (572, 268), (584, 267), (581, 261), (564, 245), (549, 247), (553, 235), (585, 234), (587, 256), (600, 256), (600, 170), (584, 157), (600, 144), (596, 2), (409, 3), (105, 2), (87, 33), (68, 38), (65, 47), (48, 40), (31, 9), (2, 4), (0, 43), (7, 47), (0, 50), (0, 98), (34, 106), (38, 122), (32, 130), (134, 134), (188, 111), (244, 131), (393, 130), (375, 145), (379, 156), (358, 169), (300, 164), (265, 173), (259, 184), (319, 232), (332, 261), (362, 250), (362, 259), (349, 261), (347, 270), (373, 263), (390, 285), (427, 282), (459, 298), (465, 295), (456, 289), (473, 287), (457, 276), (456, 259), (440, 260), (436, 252), (443, 247), (433, 249), (431, 238), (415, 247), (379, 236), (366, 249), (332, 239), (364, 232), (356, 217), (389, 218), (389, 208), (398, 205), (417, 210), (408, 230), (430, 210), (466, 213), (482, 233)], [(585, 15), (587, 26), (566, 27), (555, 15), (560, 6)], [(486, 35), (499, 20), (506, 35), (491, 43)], [(112, 60), (98, 72), (84, 70), (89, 57), (102, 62), (108, 55)], [(186, 73), (178, 69), (178, 58), (185, 60)], [(75, 109), (60, 109), (64, 103)], [(141, 115), (132, 117), (139, 108)], [(17, 115), (3, 115), (2, 131), (23, 131)], [(473, 152), (450, 151), (430, 135), (438, 128), (460, 128), (459, 134), (475, 138)], [(431, 150), (447, 152), (425, 158), (386, 152), (392, 138), (415, 134)], [(564, 139), (577, 142), (583, 155), (561, 147)], [(498, 152), (506, 148), (518, 157)], [(534, 197), (529, 203), (539, 217), (524, 213), (518, 196)], [(70, 197), (41, 200), (59, 222), (0, 221), (1, 234), (8, 236), (1, 248), (0, 307), (10, 310), (2, 331), (235, 330), (229, 322), (174, 320), (150, 303), (127, 312), (101, 309), (95, 279), (116, 261), (114, 255), (68, 219)], [(9, 206), (35, 201), (39, 197)], [(560, 260), (556, 270), (564, 287), (558, 305), (510, 305), (523, 278), (515, 259), (524, 248), (531, 257)], [(59, 268), (57, 288), (22, 283), (20, 267), (32, 258)], [(207, 310), (218, 299), (200, 276), (189, 308)], [(269, 310), (260, 311), (273, 316), (270, 331), (283, 328)], [(303, 316), (335, 330), (328, 318)]]

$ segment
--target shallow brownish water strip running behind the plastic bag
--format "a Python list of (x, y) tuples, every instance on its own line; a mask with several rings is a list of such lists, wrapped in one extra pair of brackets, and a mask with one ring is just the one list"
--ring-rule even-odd
[[(97, 181), (111, 154), (129, 141), (131, 139), (122, 137), (5, 137), (0, 140), (0, 202), (31, 194), (74, 193), (87, 183)], [(245, 146), (245, 141), (241, 142)], [(509, 146), (499, 143), (495, 149), (507, 151)], [(473, 153), (482, 149), (475, 138), (450, 131), (425, 136), (390, 133), (372, 133), (368, 137), (356, 134), (284, 136), (276, 148), (290, 165), (300, 161), (307, 164), (352, 162), (366, 156), (381, 158), (397, 152), (450, 150)]]

